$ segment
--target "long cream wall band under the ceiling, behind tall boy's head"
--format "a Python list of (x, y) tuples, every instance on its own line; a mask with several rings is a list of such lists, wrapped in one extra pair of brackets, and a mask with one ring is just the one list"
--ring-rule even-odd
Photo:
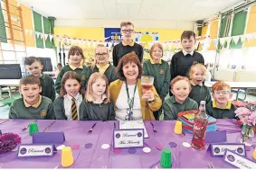
[[(124, 20), (103, 20), (103, 19), (58, 19), (55, 22), (56, 27), (101, 27), (101, 28), (119, 28)], [(136, 28), (157, 28), (157, 29), (183, 29), (194, 30), (194, 22), (175, 22), (161, 20), (129, 20), (134, 23)]]

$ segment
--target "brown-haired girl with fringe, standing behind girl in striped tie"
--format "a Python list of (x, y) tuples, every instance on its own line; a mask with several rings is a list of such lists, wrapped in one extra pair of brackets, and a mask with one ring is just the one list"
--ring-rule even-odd
[(68, 54), (69, 65), (62, 67), (61, 72), (57, 76), (55, 82), (55, 90), (57, 94), (60, 94), (62, 87), (62, 76), (68, 71), (75, 71), (81, 76), (81, 85), (84, 88), (86, 67), (83, 66), (84, 56), (82, 49), (78, 46), (72, 46)]

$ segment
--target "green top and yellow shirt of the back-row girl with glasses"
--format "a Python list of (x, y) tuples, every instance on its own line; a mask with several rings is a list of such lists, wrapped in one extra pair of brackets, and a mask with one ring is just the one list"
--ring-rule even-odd
[(109, 84), (115, 80), (118, 79), (118, 76), (117, 76), (117, 73), (116, 73), (116, 67), (114, 67), (113, 65), (106, 65), (105, 67), (100, 67), (99, 65), (96, 65), (95, 67), (92, 67), (89, 66), (86, 70), (86, 73), (85, 73), (85, 77), (86, 77), (86, 87), (87, 87), (87, 84), (89, 82), (89, 79), (90, 79), (90, 75), (92, 75), (93, 73), (101, 73), (103, 75), (105, 75), (109, 81)]

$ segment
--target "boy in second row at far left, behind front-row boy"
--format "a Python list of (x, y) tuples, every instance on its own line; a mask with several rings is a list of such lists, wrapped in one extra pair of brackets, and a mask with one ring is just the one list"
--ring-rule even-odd
[(40, 94), (48, 97), (53, 102), (56, 98), (54, 82), (51, 76), (42, 73), (43, 65), (40, 59), (35, 57), (25, 58), (24, 65), (29, 75), (40, 79), (40, 85), (42, 86), (42, 92)]

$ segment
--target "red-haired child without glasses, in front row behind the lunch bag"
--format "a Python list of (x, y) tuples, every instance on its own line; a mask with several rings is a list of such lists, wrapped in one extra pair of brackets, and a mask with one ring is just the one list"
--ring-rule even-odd
[(167, 95), (163, 103), (164, 120), (176, 120), (179, 112), (197, 110), (197, 103), (188, 97), (191, 91), (189, 80), (185, 76), (176, 76), (171, 82), (172, 96)]

